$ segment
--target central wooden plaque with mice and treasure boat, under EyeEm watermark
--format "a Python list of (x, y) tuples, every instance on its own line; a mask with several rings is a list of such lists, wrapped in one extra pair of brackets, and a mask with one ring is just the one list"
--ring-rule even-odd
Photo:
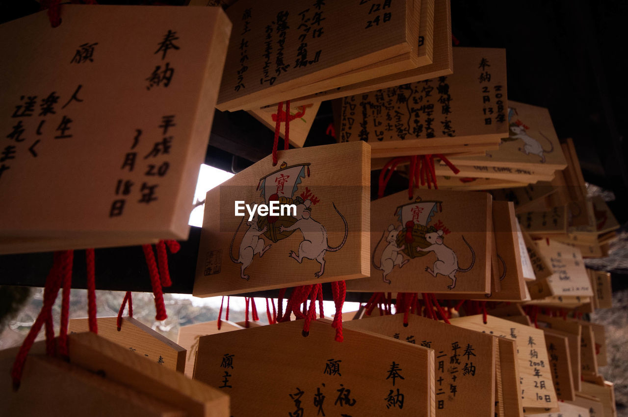
[[(366, 277), (369, 152), (364, 143), (282, 150), (277, 166), (268, 156), (208, 191), (193, 294)], [(236, 201), (241, 217), (234, 215)], [(244, 208), (271, 201), (295, 209), (251, 218)]]

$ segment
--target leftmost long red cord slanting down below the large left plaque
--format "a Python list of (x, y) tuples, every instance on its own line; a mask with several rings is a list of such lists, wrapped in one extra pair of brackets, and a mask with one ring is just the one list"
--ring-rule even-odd
[(50, 327), (47, 328), (46, 331), (46, 351), (48, 354), (51, 352), (48, 350), (48, 338), (50, 337), (50, 331), (52, 331), (52, 339), (50, 339), (50, 343), (54, 344), (54, 330), (51, 325), (52, 318), (52, 306), (55, 304), (55, 300), (57, 299), (57, 295), (59, 293), (59, 288), (61, 287), (62, 282), (62, 267), (61, 267), (61, 258), (60, 253), (56, 253), (53, 258), (53, 265), (50, 268), (50, 272), (48, 272), (48, 277), (46, 277), (46, 287), (43, 293), (43, 305), (41, 306), (40, 313), (37, 315), (35, 319), (35, 323), (31, 326), (31, 329), (28, 330), (28, 335), (24, 339), (22, 346), (19, 347), (19, 351), (17, 356), (15, 357), (15, 362), (13, 362), (13, 368), (11, 369), (11, 378), (13, 379), (13, 389), (16, 390), (19, 388), (20, 381), (22, 379), (22, 372), (24, 371), (24, 363), (26, 362), (26, 357), (28, 356), (28, 352), (30, 351), (33, 343), (35, 342), (35, 338), (37, 334), (40, 332), (41, 327), (44, 323), (49, 322)]

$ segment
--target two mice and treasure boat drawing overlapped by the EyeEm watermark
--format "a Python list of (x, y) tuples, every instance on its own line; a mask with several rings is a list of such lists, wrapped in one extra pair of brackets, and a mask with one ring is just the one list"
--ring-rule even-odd
[[(278, 216), (270, 213), (265, 216), (257, 212), (253, 214), (251, 220), (246, 222), (249, 229), (242, 237), (239, 255), (236, 258), (233, 246), (236, 235), (245, 220), (244, 217), (242, 218), (229, 248), (231, 261), (241, 264), (241, 278), (247, 281), (251, 278), (245, 270), (251, 265), (255, 255), (261, 258), (274, 243), (288, 238), (296, 230), (299, 230), (302, 235), (298, 250), (291, 250), (287, 255), (298, 263), (303, 263), (304, 259), (316, 260), (320, 264), (320, 270), (314, 273), (317, 278), (325, 273), (325, 254), (340, 250), (347, 242), (349, 235), (347, 219), (338, 211), (333, 202), (333, 208), (344, 223), (344, 238), (337, 246), (332, 247), (328, 245), (327, 229), (312, 218), (311, 213), (317, 204), (325, 204), (325, 202), (318, 199), (309, 187), (305, 187), (299, 195), (295, 196), (298, 186), (305, 177), (310, 177), (309, 163), (288, 166), (286, 162), (283, 162), (278, 170), (259, 179), (257, 190), (261, 191), (263, 198), (260, 204), (271, 206), (272, 201), (278, 201), (281, 205), (291, 204), (295, 209), (293, 211), (288, 209), (287, 213), (281, 209)], [(269, 241), (268, 245), (267, 241)]]

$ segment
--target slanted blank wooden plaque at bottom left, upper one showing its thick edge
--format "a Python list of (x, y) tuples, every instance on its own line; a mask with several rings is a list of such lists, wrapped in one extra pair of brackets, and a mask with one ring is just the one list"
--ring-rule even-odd
[(104, 372), (107, 379), (129, 386), (161, 401), (188, 416), (227, 417), (229, 396), (194, 381), (181, 372), (171, 371), (146, 361), (114, 342), (93, 333), (70, 334), (70, 362), (88, 371)]

